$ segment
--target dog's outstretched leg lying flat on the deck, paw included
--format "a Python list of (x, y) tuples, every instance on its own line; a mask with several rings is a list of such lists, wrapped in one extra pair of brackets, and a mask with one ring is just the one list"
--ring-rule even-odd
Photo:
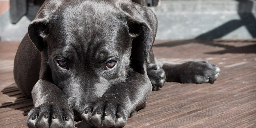
[(166, 73), (166, 81), (180, 83), (213, 83), (220, 75), (220, 68), (208, 61), (185, 63), (157, 62)]

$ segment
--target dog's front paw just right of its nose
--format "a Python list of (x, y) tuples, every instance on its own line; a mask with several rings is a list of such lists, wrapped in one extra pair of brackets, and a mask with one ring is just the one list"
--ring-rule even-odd
[(97, 128), (124, 127), (129, 116), (116, 98), (99, 98), (86, 106), (81, 117), (85, 123)]

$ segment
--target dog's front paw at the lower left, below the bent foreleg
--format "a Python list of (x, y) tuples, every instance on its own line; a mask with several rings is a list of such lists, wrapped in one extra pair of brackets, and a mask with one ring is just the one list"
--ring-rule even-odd
[(68, 108), (60, 104), (42, 104), (28, 113), (29, 128), (73, 128), (74, 116)]

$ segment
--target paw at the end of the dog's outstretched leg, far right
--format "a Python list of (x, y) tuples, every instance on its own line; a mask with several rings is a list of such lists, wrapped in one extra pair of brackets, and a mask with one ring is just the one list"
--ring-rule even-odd
[(214, 83), (220, 75), (220, 68), (208, 61), (189, 61), (184, 63), (182, 83)]

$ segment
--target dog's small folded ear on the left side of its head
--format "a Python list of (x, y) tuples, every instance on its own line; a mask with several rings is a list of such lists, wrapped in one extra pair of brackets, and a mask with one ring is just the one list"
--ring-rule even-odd
[(35, 19), (28, 26), (28, 36), (35, 44), (39, 52), (44, 50), (43, 38), (47, 38), (49, 34), (49, 22), (44, 19)]

